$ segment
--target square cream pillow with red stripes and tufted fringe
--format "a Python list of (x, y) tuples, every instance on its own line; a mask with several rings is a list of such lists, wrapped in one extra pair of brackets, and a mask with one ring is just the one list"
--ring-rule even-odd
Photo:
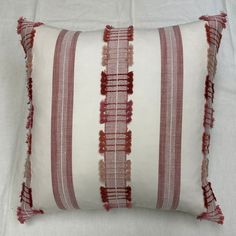
[(91, 32), (19, 19), (29, 108), (21, 223), (131, 207), (223, 223), (207, 164), (226, 14), (200, 19)]

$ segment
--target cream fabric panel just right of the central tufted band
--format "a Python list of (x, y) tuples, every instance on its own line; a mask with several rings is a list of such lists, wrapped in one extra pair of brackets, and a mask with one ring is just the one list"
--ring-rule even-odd
[(156, 208), (160, 129), (160, 41), (158, 30), (135, 30), (131, 160), (133, 205)]

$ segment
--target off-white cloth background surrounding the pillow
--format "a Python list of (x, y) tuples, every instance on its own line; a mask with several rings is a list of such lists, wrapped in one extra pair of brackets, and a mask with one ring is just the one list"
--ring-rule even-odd
[[(125, 209), (35, 217), (19, 225), (15, 216), (25, 155), (26, 89), (23, 51), (16, 19), (70, 29), (102, 29), (105, 24), (154, 28), (196, 20), (203, 14), (228, 13), (218, 54), (214, 101), (215, 127), (210, 148), (210, 181), (226, 216), (223, 227), (181, 213)], [(0, 7), (0, 235), (209, 235), (236, 234), (236, 5), (234, 0), (1, 0)], [(13, 178), (17, 176), (17, 178)], [(13, 186), (10, 188), (9, 186)]]

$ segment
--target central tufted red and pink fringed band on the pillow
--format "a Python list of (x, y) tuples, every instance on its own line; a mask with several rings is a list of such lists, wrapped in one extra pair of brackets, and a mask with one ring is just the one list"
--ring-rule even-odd
[(106, 26), (103, 39), (101, 73), (101, 94), (105, 99), (100, 103), (100, 123), (104, 131), (99, 132), (99, 153), (104, 160), (99, 161), (100, 187), (104, 208), (131, 207), (130, 181), (131, 161), (126, 156), (131, 152), (131, 131), (127, 125), (132, 120), (131, 100), (133, 93), (133, 72), (128, 68), (133, 63), (133, 27), (113, 28)]

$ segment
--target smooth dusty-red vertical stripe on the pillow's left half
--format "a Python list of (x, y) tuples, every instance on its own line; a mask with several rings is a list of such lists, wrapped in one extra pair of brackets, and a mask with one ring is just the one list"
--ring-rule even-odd
[(56, 204), (79, 208), (72, 179), (74, 60), (79, 32), (62, 30), (57, 38), (52, 85), (51, 172)]

